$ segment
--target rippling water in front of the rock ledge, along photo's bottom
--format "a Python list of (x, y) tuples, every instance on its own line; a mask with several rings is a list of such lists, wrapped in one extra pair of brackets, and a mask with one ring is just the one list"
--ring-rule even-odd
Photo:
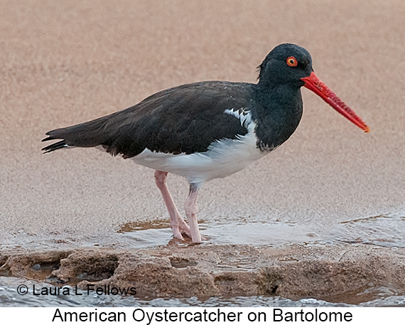
[[(19, 285), (26, 285), (28, 293), (20, 295), (17, 292)], [(378, 294), (368, 302), (361, 304), (343, 304), (325, 302), (318, 299), (300, 299), (293, 301), (282, 297), (212, 297), (199, 300), (195, 297), (188, 299), (151, 299), (142, 300), (136, 297), (121, 297), (119, 295), (87, 296), (85, 291), (77, 290), (77, 295), (60, 294), (58, 296), (35, 296), (33, 286), (50, 287), (50, 284), (18, 279), (16, 277), (0, 277), (0, 306), (1, 307), (405, 307), (405, 296), (393, 295), (385, 288), (379, 288)], [(70, 289), (70, 292), (73, 292)], [(79, 295), (82, 294), (82, 295)], [(369, 294), (364, 292), (362, 294)]]

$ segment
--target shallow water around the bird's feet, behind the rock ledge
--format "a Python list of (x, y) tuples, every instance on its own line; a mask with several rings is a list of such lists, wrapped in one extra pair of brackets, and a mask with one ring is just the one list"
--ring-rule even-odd
[[(200, 224), (202, 235), (213, 244), (288, 245), (305, 244), (369, 244), (383, 247), (405, 247), (405, 217), (378, 215), (345, 220), (333, 227), (316, 227), (279, 221), (235, 223), (208, 221)], [(126, 223), (119, 233), (131, 238), (136, 248), (166, 245), (172, 233), (168, 221)]]

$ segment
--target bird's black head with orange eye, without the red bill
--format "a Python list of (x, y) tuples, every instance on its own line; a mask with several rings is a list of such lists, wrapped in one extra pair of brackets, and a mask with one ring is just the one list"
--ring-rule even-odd
[(312, 58), (308, 50), (295, 44), (276, 46), (259, 66), (259, 85), (304, 85), (301, 78), (311, 75)]

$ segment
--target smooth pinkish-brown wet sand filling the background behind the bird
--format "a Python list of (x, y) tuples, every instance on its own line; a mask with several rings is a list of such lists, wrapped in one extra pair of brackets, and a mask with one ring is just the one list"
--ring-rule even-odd
[[(325, 242), (325, 230), (382, 216), (396, 218), (401, 234), (404, 14), (402, 1), (369, 1), (367, 7), (362, 1), (124, 1), (119, 6), (109, 1), (97, 6), (83, 1), (3, 1), (2, 270), (13, 254), (30, 256), (38, 250), (85, 254), (84, 247), (95, 247), (95, 254), (135, 254), (136, 233), (128, 236), (119, 230), (131, 223), (159, 228), (168, 220), (151, 169), (96, 149), (43, 155), (45, 132), (124, 109), (153, 92), (187, 82), (255, 82), (257, 65), (271, 48), (287, 42), (309, 50), (318, 77), (371, 132), (362, 133), (303, 90), (303, 119), (286, 144), (244, 171), (202, 188), (199, 220), (202, 234), (210, 238), (203, 249), (227, 252), (229, 247), (210, 233), (210, 227), (227, 223), (229, 233), (240, 223), (295, 225), (296, 233), (282, 228), (284, 242), (276, 242), (286, 257), (298, 254), (298, 246), (288, 243), (301, 230), (301, 235)], [(182, 207), (188, 191), (185, 180), (171, 175), (169, 188)], [(379, 230), (372, 226), (370, 233)], [(383, 242), (396, 232), (384, 229)], [(339, 241), (339, 236), (334, 239)], [(358, 270), (366, 272), (369, 263), (360, 257), (371, 246), (364, 245), (361, 233), (358, 237), (345, 250), (357, 254), (363, 261)], [(228, 239), (232, 244), (232, 235)], [(257, 245), (249, 240), (244, 244), (244, 250)], [(263, 244), (275, 245), (271, 238)], [(153, 246), (153, 238), (148, 245)], [(402, 247), (395, 238), (391, 246)], [(200, 250), (180, 247), (190, 255)], [(334, 247), (325, 242), (323, 250), (303, 253), (291, 263), (309, 255), (322, 260)], [(385, 262), (396, 265), (400, 252), (390, 252)], [(193, 272), (193, 267), (182, 270)], [(386, 279), (390, 283), (392, 278)], [(392, 285), (404, 290), (403, 284)]]

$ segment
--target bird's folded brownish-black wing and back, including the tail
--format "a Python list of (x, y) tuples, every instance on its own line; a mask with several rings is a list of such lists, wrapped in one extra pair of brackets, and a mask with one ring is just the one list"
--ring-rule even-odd
[(249, 107), (251, 84), (197, 82), (157, 92), (139, 104), (90, 122), (47, 132), (43, 141), (62, 139), (43, 148), (102, 145), (124, 158), (144, 149), (171, 154), (207, 151), (220, 139), (247, 134), (247, 127), (225, 110)]

